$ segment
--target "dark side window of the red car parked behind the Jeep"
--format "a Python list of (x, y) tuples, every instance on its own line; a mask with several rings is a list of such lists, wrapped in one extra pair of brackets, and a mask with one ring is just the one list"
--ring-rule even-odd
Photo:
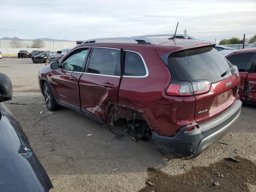
[(253, 52), (239, 53), (227, 57), (227, 60), (238, 67), (239, 72), (248, 72), (251, 67)]

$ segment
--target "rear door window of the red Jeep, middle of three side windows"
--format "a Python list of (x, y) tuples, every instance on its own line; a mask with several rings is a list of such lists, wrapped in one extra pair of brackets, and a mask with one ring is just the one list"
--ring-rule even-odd
[(120, 76), (120, 50), (93, 48), (86, 72)]

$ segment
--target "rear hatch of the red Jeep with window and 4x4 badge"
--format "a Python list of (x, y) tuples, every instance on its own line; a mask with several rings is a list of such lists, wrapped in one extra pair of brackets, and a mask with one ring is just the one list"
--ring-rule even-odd
[(167, 67), (171, 73), (170, 86), (174, 85), (172, 91), (180, 84), (177, 96), (196, 98), (194, 114), (198, 123), (222, 114), (237, 100), (237, 68), (213, 46), (174, 52), (168, 56)]

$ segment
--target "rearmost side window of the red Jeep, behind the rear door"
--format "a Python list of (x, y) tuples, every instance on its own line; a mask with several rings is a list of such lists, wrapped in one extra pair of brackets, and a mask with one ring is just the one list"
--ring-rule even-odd
[(124, 76), (144, 76), (146, 68), (138, 53), (124, 51)]

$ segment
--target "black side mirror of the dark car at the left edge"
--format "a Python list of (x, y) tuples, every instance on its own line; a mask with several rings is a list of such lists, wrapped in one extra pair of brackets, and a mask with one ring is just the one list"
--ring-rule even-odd
[(12, 82), (10, 78), (0, 73), (0, 102), (12, 99)]

